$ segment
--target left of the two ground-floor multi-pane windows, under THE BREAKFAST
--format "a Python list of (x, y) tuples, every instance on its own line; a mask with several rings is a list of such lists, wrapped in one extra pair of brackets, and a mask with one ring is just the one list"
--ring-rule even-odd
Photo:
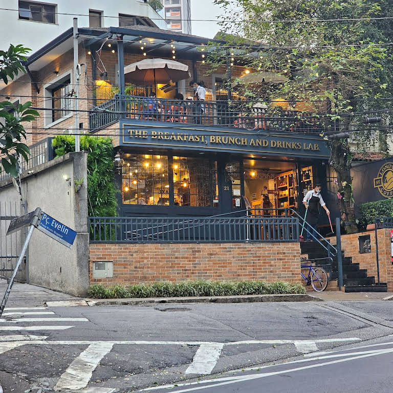
[(122, 197), (129, 205), (169, 205), (168, 157), (125, 154)]

